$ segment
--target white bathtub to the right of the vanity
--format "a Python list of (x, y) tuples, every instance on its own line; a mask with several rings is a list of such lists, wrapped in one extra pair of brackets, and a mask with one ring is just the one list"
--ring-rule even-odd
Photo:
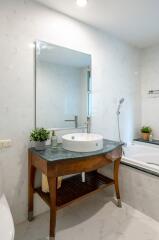
[(159, 145), (133, 142), (123, 150), (123, 164), (159, 176)]

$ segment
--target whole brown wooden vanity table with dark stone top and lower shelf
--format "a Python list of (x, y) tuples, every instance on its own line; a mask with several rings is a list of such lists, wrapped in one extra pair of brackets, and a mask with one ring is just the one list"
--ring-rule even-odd
[[(114, 184), (118, 206), (121, 206), (118, 172), (122, 156), (122, 144), (104, 140), (102, 150), (91, 153), (76, 153), (64, 150), (61, 145), (44, 151), (30, 148), (28, 151), (29, 181), (28, 181), (28, 220), (33, 220), (33, 195), (39, 196), (50, 207), (50, 240), (55, 239), (56, 210), (65, 207), (75, 200), (97, 192)], [(114, 163), (114, 179), (107, 178), (97, 172), (97, 169)], [(35, 172), (39, 169), (48, 178), (50, 193), (42, 192), (41, 187), (34, 187)], [(81, 172), (86, 172), (86, 182), (82, 182)], [(79, 173), (64, 179), (57, 190), (57, 177)]]

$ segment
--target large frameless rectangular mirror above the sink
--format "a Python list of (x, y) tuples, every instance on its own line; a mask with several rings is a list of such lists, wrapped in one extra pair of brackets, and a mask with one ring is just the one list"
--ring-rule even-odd
[(91, 115), (91, 56), (36, 42), (36, 127), (78, 128)]

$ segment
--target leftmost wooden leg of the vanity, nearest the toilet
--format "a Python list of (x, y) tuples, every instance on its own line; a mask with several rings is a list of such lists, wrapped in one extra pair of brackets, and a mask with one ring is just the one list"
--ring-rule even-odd
[(32, 165), (31, 153), (28, 155), (28, 220), (33, 220), (34, 207), (34, 181), (36, 168)]

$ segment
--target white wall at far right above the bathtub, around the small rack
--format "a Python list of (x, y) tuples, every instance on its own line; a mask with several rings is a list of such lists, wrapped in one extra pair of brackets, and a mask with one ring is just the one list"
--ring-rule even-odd
[(159, 94), (150, 97), (149, 90), (159, 89), (159, 45), (141, 54), (142, 125), (150, 125), (153, 137), (159, 139)]

